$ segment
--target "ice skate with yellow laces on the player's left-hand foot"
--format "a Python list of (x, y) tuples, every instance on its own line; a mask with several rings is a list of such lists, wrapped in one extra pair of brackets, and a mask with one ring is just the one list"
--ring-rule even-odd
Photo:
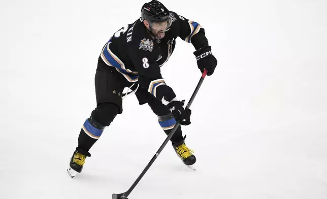
[(90, 156), (91, 154), (89, 152), (76, 148), (71, 157), (69, 168), (67, 169), (68, 174), (74, 178), (77, 173), (81, 173), (86, 157)]

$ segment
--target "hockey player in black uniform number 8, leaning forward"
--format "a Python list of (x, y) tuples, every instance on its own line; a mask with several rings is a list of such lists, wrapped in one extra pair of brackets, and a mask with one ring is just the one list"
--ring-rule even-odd
[[(177, 121), (181, 125), (190, 124), (191, 111), (183, 108), (184, 101), (177, 100), (160, 74), (160, 67), (174, 51), (177, 37), (193, 45), (198, 68), (201, 72), (207, 69), (207, 75), (212, 75), (217, 60), (204, 28), (169, 11), (158, 1), (145, 3), (141, 17), (116, 31), (105, 44), (95, 73), (96, 108), (81, 128), (68, 169), (71, 177), (82, 171), (85, 158), (91, 156), (90, 148), (116, 115), (122, 113), (124, 88), (135, 93), (140, 105), (151, 107), (167, 135)], [(172, 146), (186, 165), (192, 165), (196, 158), (185, 145), (185, 138), (179, 126), (171, 138)]]

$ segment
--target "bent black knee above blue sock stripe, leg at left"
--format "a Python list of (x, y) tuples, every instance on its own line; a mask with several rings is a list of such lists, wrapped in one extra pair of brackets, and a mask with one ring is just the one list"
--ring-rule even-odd
[(109, 126), (118, 114), (119, 107), (112, 103), (98, 105), (91, 113), (90, 119), (95, 125)]

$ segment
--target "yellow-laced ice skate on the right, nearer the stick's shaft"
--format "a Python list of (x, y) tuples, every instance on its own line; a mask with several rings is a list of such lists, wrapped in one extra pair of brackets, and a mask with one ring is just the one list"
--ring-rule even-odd
[(194, 151), (192, 151), (185, 145), (185, 138), (186, 136), (183, 138), (182, 141), (173, 143), (173, 147), (176, 154), (180, 157), (183, 163), (187, 165), (188, 168), (195, 171), (192, 165), (197, 161), (197, 158), (195, 158), (195, 156), (192, 154), (194, 153)]

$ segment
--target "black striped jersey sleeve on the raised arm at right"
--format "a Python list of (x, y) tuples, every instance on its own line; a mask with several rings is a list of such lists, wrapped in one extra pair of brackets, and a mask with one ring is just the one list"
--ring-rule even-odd
[(191, 43), (195, 50), (208, 45), (208, 39), (205, 36), (205, 29), (196, 21), (186, 19), (183, 16), (172, 12), (174, 20), (179, 24), (179, 37), (187, 43)]

